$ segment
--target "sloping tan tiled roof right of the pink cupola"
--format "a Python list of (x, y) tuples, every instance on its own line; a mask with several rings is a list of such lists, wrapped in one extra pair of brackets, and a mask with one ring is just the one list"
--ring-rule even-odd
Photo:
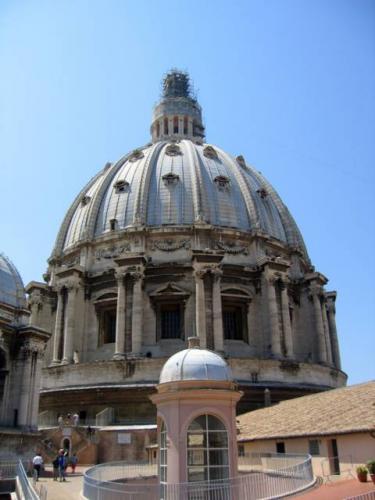
[(375, 431), (375, 381), (240, 415), (238, 441)]

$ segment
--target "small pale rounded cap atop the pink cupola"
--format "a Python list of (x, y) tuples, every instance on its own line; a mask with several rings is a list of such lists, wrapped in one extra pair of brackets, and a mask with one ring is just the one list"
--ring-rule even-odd
[(177, 352), (164, 364), (159, 383), (183, 380), (233, 380), (232, 373), (224, 359), (207, 349), (191, 348)]

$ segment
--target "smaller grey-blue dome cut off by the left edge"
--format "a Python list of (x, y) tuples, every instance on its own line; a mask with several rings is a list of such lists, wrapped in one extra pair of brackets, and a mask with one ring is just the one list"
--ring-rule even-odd
[(13, 307), (26, 307), (21, 276), (12, 262), (0, 253), (0, 302)]

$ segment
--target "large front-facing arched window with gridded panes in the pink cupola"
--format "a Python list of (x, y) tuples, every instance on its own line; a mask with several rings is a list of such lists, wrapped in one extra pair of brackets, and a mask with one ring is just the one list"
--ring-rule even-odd
[(200, 415), (187, 432), (188, 481), (215, 481), (229, 477), (228, 435), (213, 415)]

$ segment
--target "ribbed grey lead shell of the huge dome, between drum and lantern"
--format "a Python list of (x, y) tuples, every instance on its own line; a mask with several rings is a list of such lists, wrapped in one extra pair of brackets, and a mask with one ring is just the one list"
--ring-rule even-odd
[(113, 231), (202, 224), (263, 231), (306, 255), (287, 207), (259, 172), (188, 139), (158, 141), (108, 164), (69, 209), (54, 255)]

